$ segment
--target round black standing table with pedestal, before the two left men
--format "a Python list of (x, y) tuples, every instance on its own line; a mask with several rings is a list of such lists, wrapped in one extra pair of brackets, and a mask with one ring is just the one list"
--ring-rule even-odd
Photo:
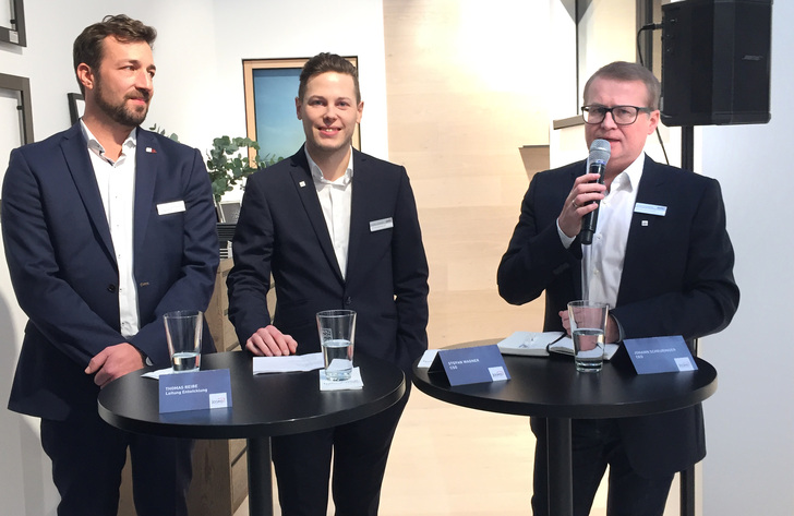
[(253, 374), (242, 351), (205, 355), (202, 370), (228, 369), (232, 407), (159, 413), (158, 382), (136, 371), (99, 393), (99, 416), (121, 430), (169, 437), (246, 439), (249, 513), (273, 514), (270, 436), (311, 432), (381, 412), (405, 394), (402, 371), (357, 355), (364, 388), (320, 391), (317, 371)]

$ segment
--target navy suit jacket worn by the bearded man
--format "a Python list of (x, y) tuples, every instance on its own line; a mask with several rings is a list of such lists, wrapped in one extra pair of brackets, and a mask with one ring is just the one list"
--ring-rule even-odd
[[(205, 310), (218, 265), (216, 215), (201, 154), (137, 129), (133, 266), (140, 331), (120, 333), (119, 272), (80, 122), (11, 153), (2, 233), (11, 281), (29, 321), (9, 408), (67, 420), (96, 412), (84, 373), (104, 348), (128, 341), (170, 363), (161, 315)], [(184, 202), (160, 214), (158, 206)], [(213, 351), (204, 332), (203, 351)]]

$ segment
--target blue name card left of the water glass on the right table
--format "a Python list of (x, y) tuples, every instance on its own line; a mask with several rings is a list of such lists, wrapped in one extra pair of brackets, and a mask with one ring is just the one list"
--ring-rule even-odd
[(498, 346), (441, 349), (429, 372), (443, 372), (449, 385), (501, 382), (510, 379)]

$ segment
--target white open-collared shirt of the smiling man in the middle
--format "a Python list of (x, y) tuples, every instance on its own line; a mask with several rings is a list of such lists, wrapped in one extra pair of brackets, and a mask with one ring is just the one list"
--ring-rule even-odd
[(328, 227), (328, 235), (334, 244), (336, 261), (341, 271), (341, 277), (347, 274), (348, 244), (350, 243), (350, 202), (352, 200), (353, 179), (353, 153), (350, 151), (350, 160), (345, 175), (335, 181), (328, 181), (323, 177), (323, 171), (306, 153), (309, 168), (312, 171), (314, 188), (317, 190), (320, 205), (323, 207), (323, 216)]

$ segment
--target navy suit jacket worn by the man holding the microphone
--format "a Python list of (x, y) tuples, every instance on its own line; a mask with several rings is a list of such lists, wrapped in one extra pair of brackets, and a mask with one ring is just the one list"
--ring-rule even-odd
[[(502, 297), (522, 304), (545, 292), (544, 331), (562, 331), (557, 312), (581, 297), (581, 244), (565, 249), (556, 219), (585, 161), (537, 173), (498, 267)], [(634, 213), (617, 303), (611, 313), (626, 338), (682, 335), (691, 341), (724, 328), (738, 307), (734, 254), (719, 183), (645, 159), (637, 203), (664, 216)], [(619, 359), (619, 357), (618, 357)], [(640, 472), (684, 470), (706, 454), (702, 410), (618, 420)]]

